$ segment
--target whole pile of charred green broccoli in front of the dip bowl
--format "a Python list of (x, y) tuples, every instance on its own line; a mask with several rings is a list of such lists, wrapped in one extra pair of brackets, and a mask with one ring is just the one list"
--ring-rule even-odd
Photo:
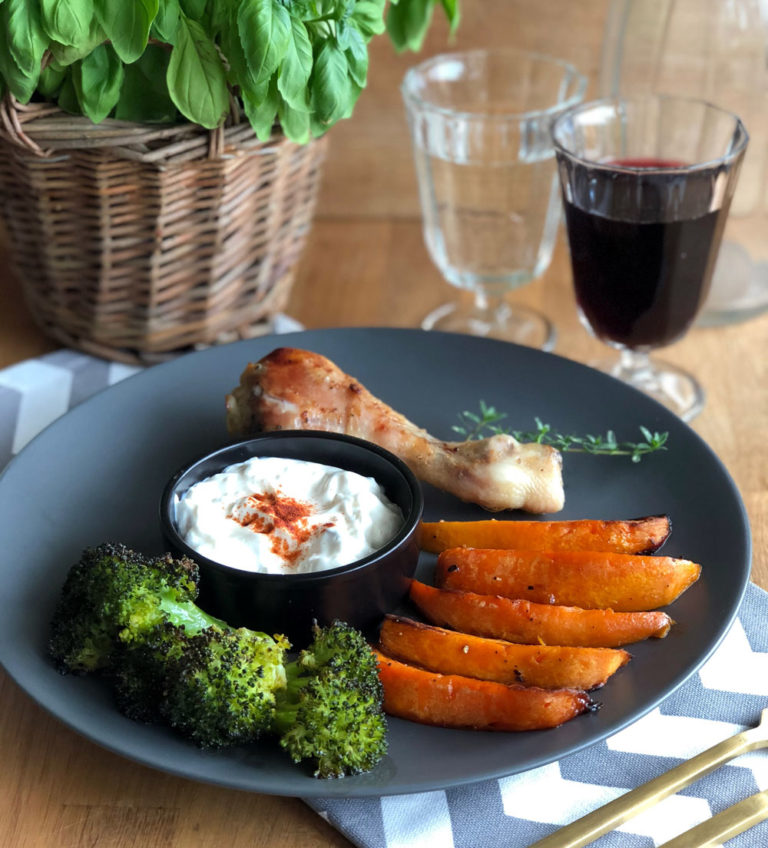
[(195, 601), (187, 559), (146, 558), (121, 545), (87, 549), (70, 570), (51, 622), (62, 672), (98, 672), (129, 718), (162, 721), (220, 748), (277, 735), (318, 777), (368, 771), (386, 751), (382, 689), (363, 636), (315, 628), (296, 660), (290, 644), (213, 618)]

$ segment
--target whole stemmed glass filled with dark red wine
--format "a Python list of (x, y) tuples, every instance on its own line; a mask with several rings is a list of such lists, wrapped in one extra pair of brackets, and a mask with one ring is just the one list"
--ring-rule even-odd
[(702, 100), (647, 95), (573, 107), (552, 136), (579, 315), (618, 351), (593, 364), (690, 420), (701, 385), (650, 353), (706, 299), (747, 132)]

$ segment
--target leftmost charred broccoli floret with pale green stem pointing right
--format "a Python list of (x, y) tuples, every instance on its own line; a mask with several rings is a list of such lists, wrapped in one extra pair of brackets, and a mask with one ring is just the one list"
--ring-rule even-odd
[(195, 605), (198, 569), (170, 554), (148, 558), (123, 545), (87, 548), (69, 571), (51, 621), (50, 655), (63, 672), (109, 669), (121, 644), (170, 622), (195, 633), (221, 625)]

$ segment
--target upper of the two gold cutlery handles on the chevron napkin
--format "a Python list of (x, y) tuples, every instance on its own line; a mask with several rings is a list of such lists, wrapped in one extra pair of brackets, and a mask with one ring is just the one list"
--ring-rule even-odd
[(705, 774), (747, 751), (768, 746), (768, 710), (763, 710), (757, 727), (718, 742), (701, 754), (675, 766), (653, 780), (609, 801), (597, 810), (577, 819), (529, 848), (582, 848), (609, 830), (614, 830), (643, 810), (689, 786)]

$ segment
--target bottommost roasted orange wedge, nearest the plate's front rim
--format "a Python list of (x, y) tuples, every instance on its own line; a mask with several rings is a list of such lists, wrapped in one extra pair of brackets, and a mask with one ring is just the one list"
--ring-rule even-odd
[(544, 730), (592, 708), (586, 692), (436, 674), (377, 652), (388, 715), (439, 727)]

